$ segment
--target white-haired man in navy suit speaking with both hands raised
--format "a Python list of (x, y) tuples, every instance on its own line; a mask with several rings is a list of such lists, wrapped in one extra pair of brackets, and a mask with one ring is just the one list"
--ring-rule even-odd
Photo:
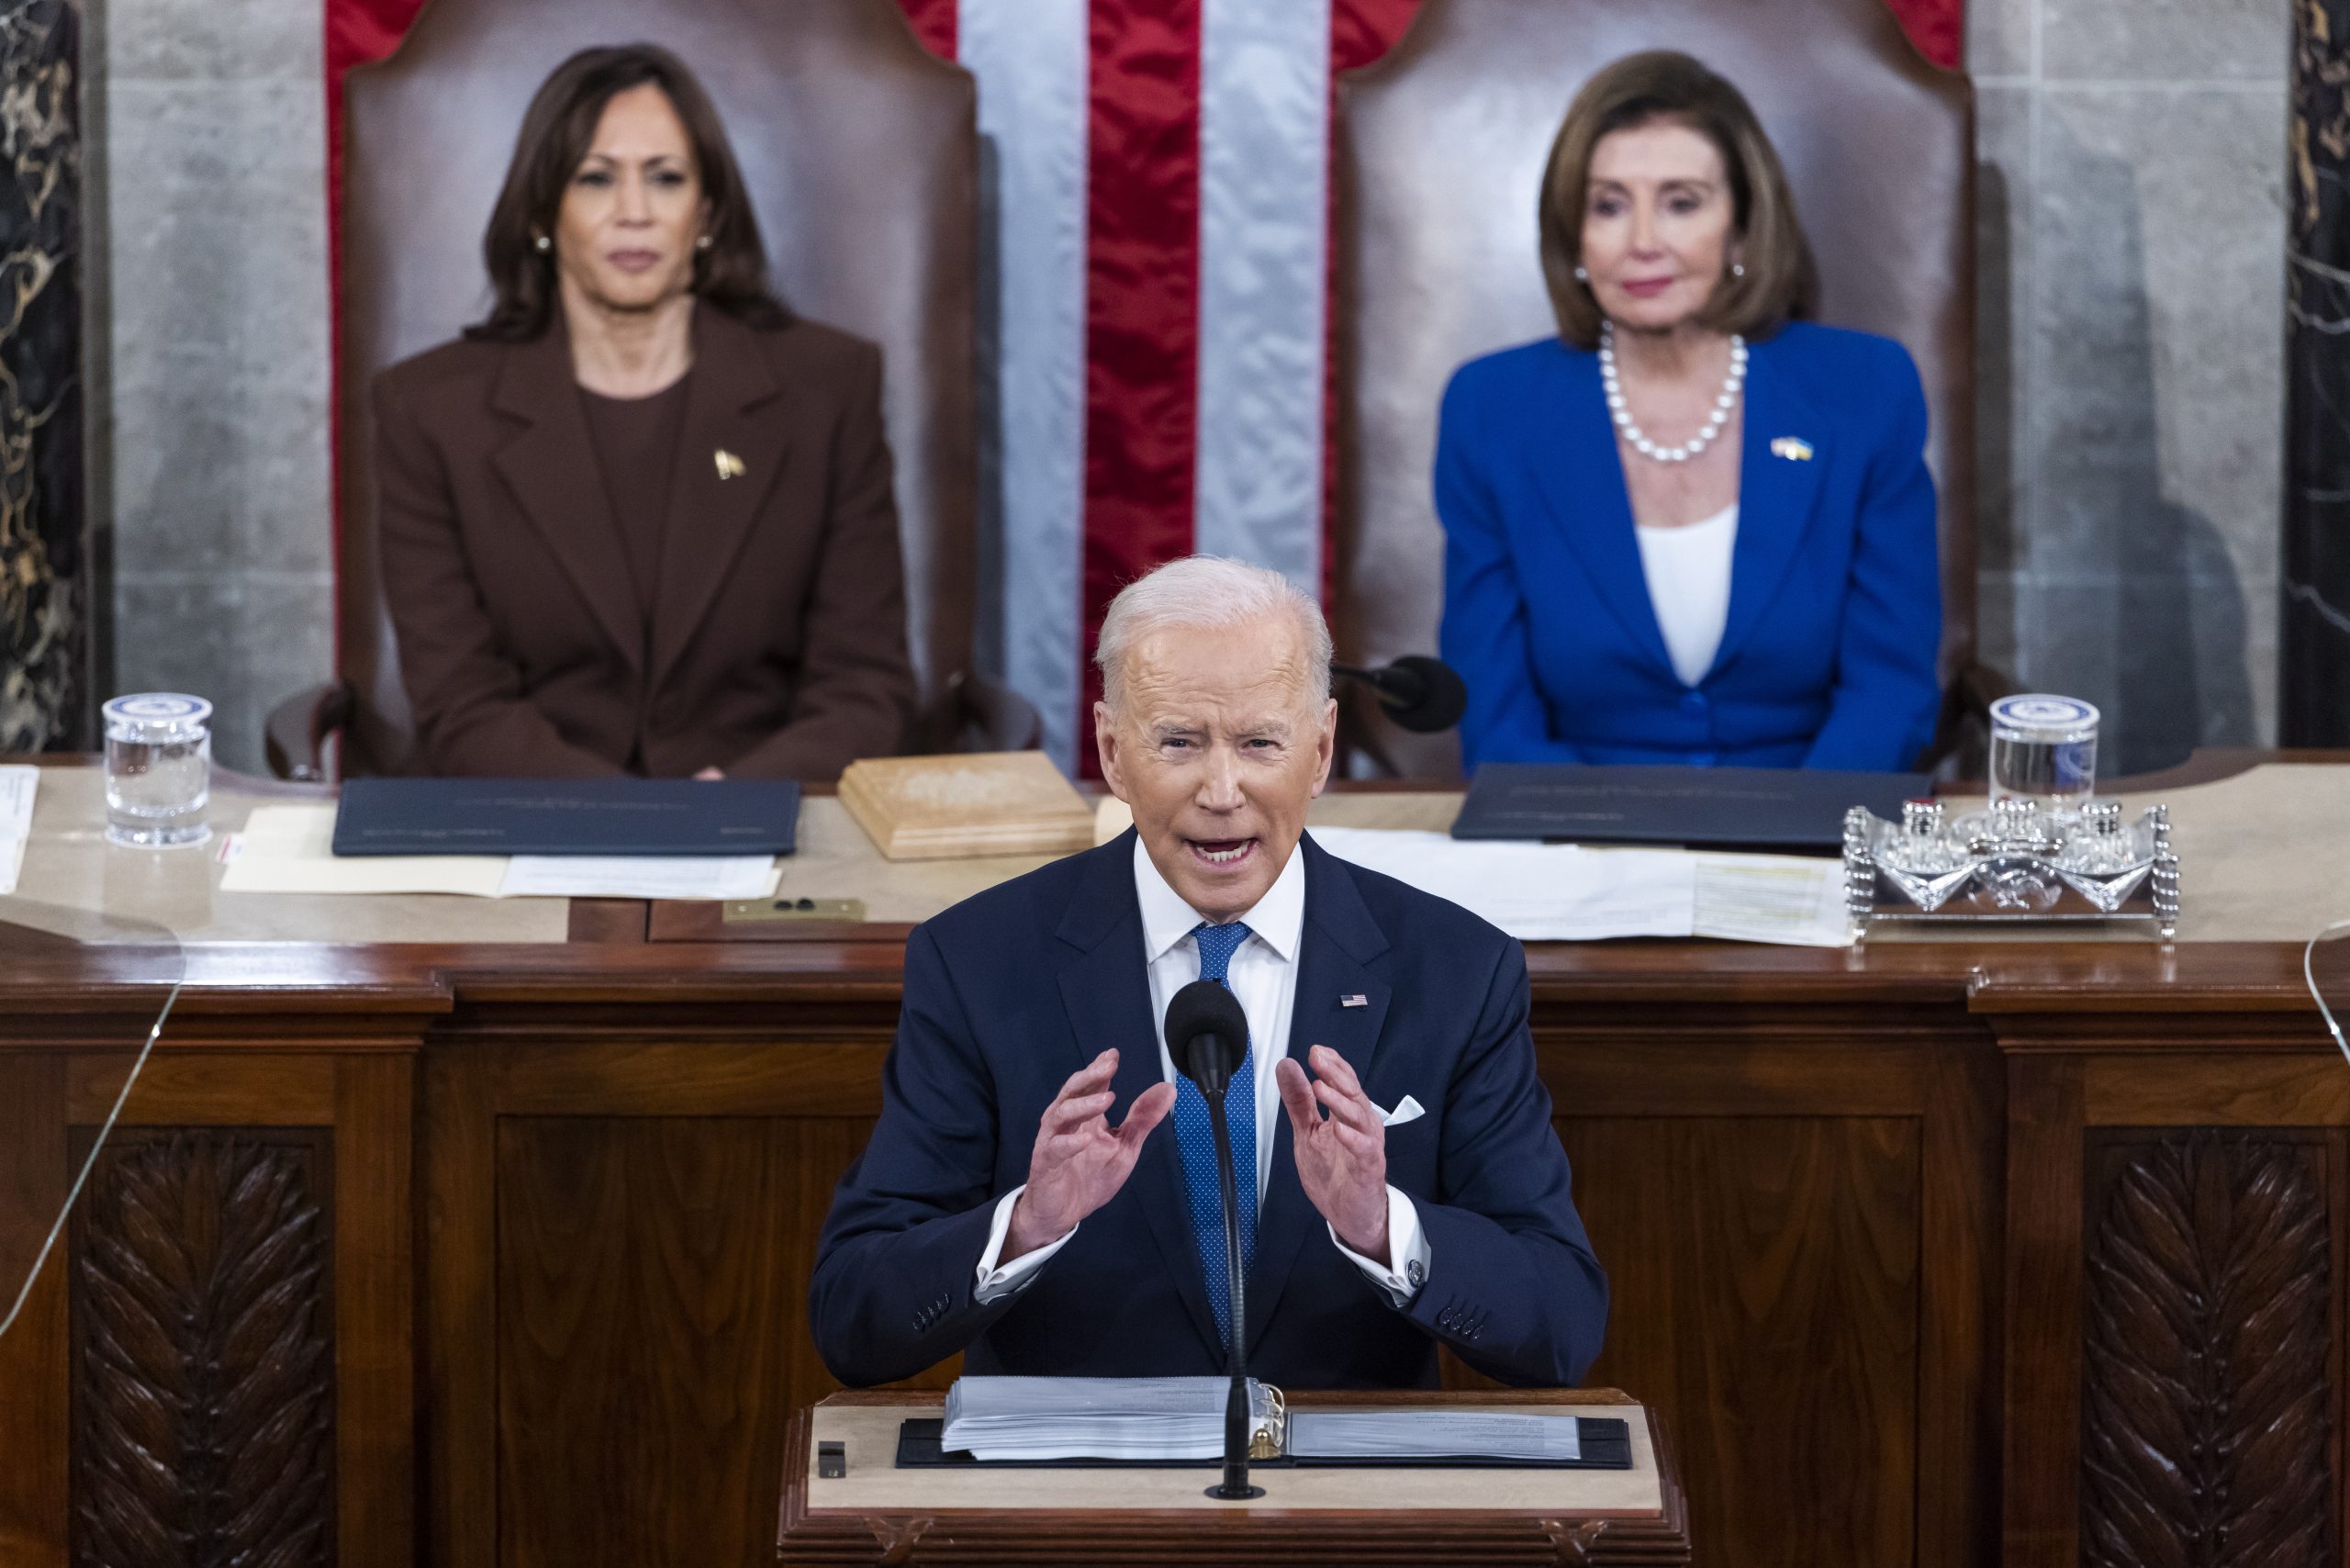
[(1250, 1025), (1250, 1371), (1429, 1387), (1450, 1345), (1506, 1382), (1574, 1382), (1607, 1284), (1535, 1077), (1525, 954), (1304, 837), (1335, 738), (1321, 609), (1194, 557), (1119, 595), (1100, 663), (1102, 776), (1135, 830), (907, 943), (881, 1121), (818, 1241), (825, 1363), (853, 1385), (954, 1352), (971, 1373), (1224, 1371), (1208, 1119), (1159, 1027), (1220, 978)]

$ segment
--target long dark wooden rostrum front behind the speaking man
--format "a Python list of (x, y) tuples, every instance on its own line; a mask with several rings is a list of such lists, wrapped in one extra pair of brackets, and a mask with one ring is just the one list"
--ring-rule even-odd
[[(2350, 893), (2315, 842), (2277, 867), (2272, 924), (2197, 929), (2200, 893), (2263, 893), (2216, 856), (2188, 860), (2197, 940), (2174, 947), (1530, 952), (1614, 1284), (1593, 1380), (1659, 1408), (1706, 1561), (2169, 1561), (2148, 1533), (2190, 1514), (2338, 1549), (2350, 1072), (2284, 926)], [(0, 931), (9, 1284), (188, 980), (0, 1340), (0, 1563), (139, 1561), (75, 1519), (193, 1530), (197, 1460), (263, 1453), (263, 1415), (273, 1465), (209, 1474), (284, 1486), (197, 1561), (289, 1540), (343, 1568), (771, 1556), (790, 1410), (834, 1389), (806, 1279), (879, 1107), (902, 926), (660, 940), (658, 912), (545, 931), (409, 900), (256, 940), (282, 914), (188, 863), (35, 860), (209, 924), (183, 954)], [(407, 938), (475, 924), (336, 926), (395, 914)], [(508, 917), (529, 929), (479, 926)], [(235, 1338), (254, 1319), (223, 1281), (268, 1281), (277, 1340)], [(237, 1399), (204, 1420), (195, 1375), (226, 1352)]]

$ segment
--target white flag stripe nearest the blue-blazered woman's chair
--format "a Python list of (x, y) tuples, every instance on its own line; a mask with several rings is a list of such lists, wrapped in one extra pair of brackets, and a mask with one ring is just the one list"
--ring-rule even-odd
[(1330, 0), (1203, 0), (1196, 548), (1321, 595)]

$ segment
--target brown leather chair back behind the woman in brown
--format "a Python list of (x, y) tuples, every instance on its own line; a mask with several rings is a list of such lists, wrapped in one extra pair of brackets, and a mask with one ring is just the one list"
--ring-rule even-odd
[(881, 343), (907, 639), (928, 712), (971, 663), (978, 94), (893, 0), (435, 0), (343, 113), (343, 771), (414, 731), (376, 550), (369, 383), (486, 315), (482, 230), (522, 110), (576, 49), (658, 40), (710, 89), (792, 310)]

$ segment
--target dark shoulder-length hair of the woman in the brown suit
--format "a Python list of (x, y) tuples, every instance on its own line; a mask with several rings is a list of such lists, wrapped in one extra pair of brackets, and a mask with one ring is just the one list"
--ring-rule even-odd
[(498, 190), (482, 235), (482, 261), (489, 266), (496, 303), (489, 317), (465, 329), (468, 339), (522, 343), (548, 329), (555, 315), (555, 254), (540, 252), (536, 240), (555, 233), (564, 188), (595, 143), (604, 106), (644, 85), (660, 87), (684, 120), (710, 207), (710, 226), (703, 230), (710, 247), (693, 252), (693, 294), (752, 327), (783, 327), (792, 320), (766, 282), (759, 219), (710, 94), (667, 49), (616, 45), (580, 49), (557, 66), (522, 115), (515, 160), (505, 167), (505, 188)]

